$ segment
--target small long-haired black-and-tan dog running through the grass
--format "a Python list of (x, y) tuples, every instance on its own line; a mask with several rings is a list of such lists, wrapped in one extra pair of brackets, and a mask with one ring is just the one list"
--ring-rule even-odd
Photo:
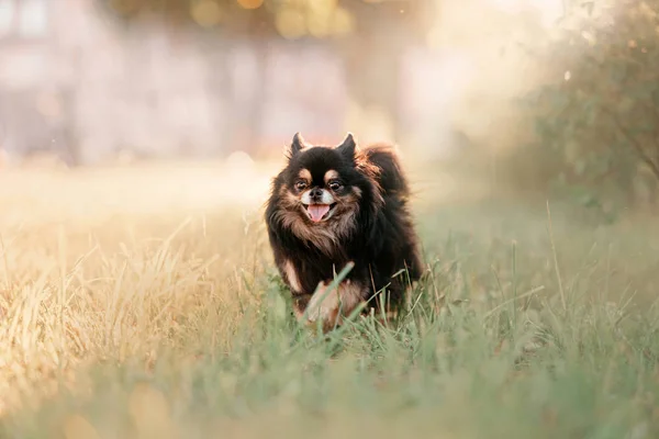
[(309, 145), (295, 133), (265, 221), (298, 319), (326, 333), (365, 302), (362, 312), (399, 309), (423, 271), (409, 198), (392, 146), (360, 148), (351, 133), (338, 146)]

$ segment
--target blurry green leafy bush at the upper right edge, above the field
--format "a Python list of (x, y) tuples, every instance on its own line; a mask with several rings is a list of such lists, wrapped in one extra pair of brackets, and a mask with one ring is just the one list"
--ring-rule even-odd
[(657, 11), (656, 0), (573, 4), (538, 56), (549, 79), (524, 101), (536, 142), (516, 159), (607, 214), (659, 179)]

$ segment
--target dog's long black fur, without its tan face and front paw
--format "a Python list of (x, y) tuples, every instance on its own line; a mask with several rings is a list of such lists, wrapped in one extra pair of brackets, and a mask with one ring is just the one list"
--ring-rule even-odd
[[(294, 206), (287, 196), (294, 193), (301, 169), (311, 171), (314, 187), (323, 187), (323, 176), (334, 169), (345, 180), (345, 191), (356, 187), (360, 192), (360, 198), (354, 201), (358, 209), (351, 221), (345, 227), (336, 225), (331, 229), (334, 239), (330, 246), (319, 246), (310, 236), (317, 236), (316, 227), (331, 226), (312, 224), (302, 212), (300, 223), (292, 219)], [(369, 301), (369, 307), (380, 306), (377, 293), (384, 288), (388, 306), (402, 304), (407, 283), (418, 280), (423, 271), (409, 196), (406, 178), (391, 147), (359, 149), (351, 135), (337, 147), (305, 147), (301, 136), (294, 136), (288, 164), (272, 181), (266, 223), (275, 262), (291, 289), (298, 312), (305, 309), (319, 282), (331, 282), (348, 261), (354, 261), (355, 267), (346, 280), (359, 285), (360, 299)], [(333, 219), (338, 224), (340, 217), (327, 222)], [(288, 279), (287, 261), (293, 266), (298, 290)], [(406, 273), (392, 278), (401, 270)]]

